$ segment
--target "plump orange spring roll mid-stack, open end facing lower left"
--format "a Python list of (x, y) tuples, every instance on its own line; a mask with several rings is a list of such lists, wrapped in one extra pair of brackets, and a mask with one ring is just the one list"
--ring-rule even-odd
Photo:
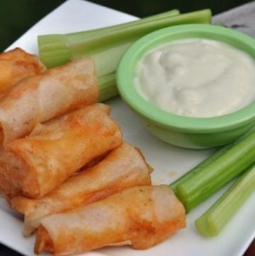
[(45, 196), (86, 163), (122, 143), (118, 124), (98, 105), (67, 113), (35, 130), (6, 145), (6, 177), (31, 198)]

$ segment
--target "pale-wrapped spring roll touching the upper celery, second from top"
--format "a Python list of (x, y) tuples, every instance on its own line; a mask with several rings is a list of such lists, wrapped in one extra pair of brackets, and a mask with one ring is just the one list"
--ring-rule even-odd
[(23, 79), (0, 102), (0, 143), (28, 135), (38, 123), (93, 104), (97, 97), (94, 62), (89, 58)]

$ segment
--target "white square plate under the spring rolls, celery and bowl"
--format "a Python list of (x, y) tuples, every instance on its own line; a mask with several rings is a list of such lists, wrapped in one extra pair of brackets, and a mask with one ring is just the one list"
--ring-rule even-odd
[[(37, 35), (45, 33), (68, 33), (101, 26), (123, 23), (136, 18), (119, 11), (113, 11), (87, 1), (69, 0), (47, 15), (33, 28), (30, 28), (8, 49), (21, 47), (37, 53)], [(109, 101), (112, 115), (123, 129), (124, 138), (144, 152), (147, 161), (154, 167), (154, 184), (169, 184), (184, 172), (203, 160), (212, 151), (185, 150), (176, 148), (152, 137), (135, 114), (119, 98)], [(194, 220), (217, 199), (222, 191), (188, 213), (188, 225), (173, 237), (149, 250), (132, 250), (130, 247), (108, 247), (84, 255), (111, 256), (239, 256), (255, 236), (255, 194), (250, 196), (244, 206), (216, 238), (204, 238), (194, 228)], [(0, 199), (0, 243), (21, 252), (33, 255), (34, 238), (21, 235), (22, 220), (13, 213), (3, 199)]]

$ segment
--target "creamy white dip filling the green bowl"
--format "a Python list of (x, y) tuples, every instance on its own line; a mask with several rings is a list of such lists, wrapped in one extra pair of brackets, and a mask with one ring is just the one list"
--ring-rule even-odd
[(164, 111), (221, 116), (254, 101), (255, 60), (215, 40), (175, 40), (142, 57), (135, 87)]

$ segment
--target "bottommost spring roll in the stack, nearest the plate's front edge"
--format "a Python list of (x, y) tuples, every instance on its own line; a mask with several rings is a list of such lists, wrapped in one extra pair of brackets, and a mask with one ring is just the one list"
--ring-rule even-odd
[(183, 205), (171, 188), (132, 187), (93, 204), (43, 218), (35, 253), (72, 255), (124, 244), (142, 250), (185, 226)]

